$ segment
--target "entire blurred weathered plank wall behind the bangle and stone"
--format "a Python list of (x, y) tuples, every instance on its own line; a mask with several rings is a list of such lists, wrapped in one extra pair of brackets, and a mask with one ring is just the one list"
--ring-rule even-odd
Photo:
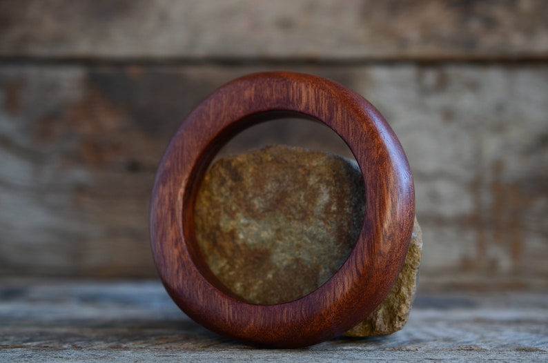
[[(0, 276), (155, 278), (148, 204), (180, 122), (226, 81), (293, 70), (400, 138), (422, 289), (548, 289), (547, 61), (542, 0), (2, 0)], [(240, 146), (331, 145), (295, 127)]]

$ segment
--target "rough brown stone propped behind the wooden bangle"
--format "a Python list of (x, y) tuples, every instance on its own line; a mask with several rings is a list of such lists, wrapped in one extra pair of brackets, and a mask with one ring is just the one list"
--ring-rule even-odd
[[(211, 270), (257, 304), (288, 302), (321, 286), (360, 232), (364, 186), (353, 161), (273, 146), (219, 159), (195, 209), (196, 234)], [(384, 302), (346, 335), (400, 330), (411, 309), (422, 251), (415, 220), (402, 273)]]

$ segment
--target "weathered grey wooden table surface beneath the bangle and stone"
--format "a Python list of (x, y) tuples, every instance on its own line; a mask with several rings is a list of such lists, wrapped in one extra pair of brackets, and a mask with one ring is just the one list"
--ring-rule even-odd
[(207, 331), (158, 281), (0, 279), (1, 362), (548, 361), (548, 294), (420, 293), (386, 337), (257, 349)]

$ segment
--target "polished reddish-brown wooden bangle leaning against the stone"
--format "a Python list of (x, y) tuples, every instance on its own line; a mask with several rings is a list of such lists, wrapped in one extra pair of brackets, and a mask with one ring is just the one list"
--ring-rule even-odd
[[(231, 137), (295, 115), (321, 121), (348, 144), (364, 177), (364, 222), (348, 259), (320, 288), (284, 304), (251, 304), (204, 262), (195, 238), (195, 199), (208, 165)], [(344, 333), (382, 302), (402, 268), (414, 215), (407, 158), (368, 101), (320, 77), (264, 72), (222, 86), (183, 121), (157, 171), (150, 239), (166, 290), (193, 320), (237, 340), (291, 348)]]

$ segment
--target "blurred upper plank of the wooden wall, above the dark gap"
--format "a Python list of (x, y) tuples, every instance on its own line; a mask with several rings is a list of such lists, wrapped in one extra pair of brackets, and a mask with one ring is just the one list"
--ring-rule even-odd
[(4, 0), (0, 24), (10, 57), (548, 57), (542, 0)]

